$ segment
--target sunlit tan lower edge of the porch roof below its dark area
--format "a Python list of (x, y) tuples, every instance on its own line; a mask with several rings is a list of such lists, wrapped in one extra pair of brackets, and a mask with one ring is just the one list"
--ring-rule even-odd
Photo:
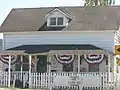
[(23, 50), (7, 50), (1, 51), (0, 55), (56, 55), (56, 54), (105, 54), (105, 55), (114, 55), (113, 52), (108, 52), (104, 50), (51, 50), (49, 52), (42, 53), (26, 53)]

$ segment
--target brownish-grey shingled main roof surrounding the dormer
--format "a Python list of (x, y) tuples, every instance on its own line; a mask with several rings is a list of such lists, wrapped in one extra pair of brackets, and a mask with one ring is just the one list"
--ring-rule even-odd
[[(0, 27), (0, 32), (41, 31), (45, 15), (55, 7), (12, 9)], [(108, 7), (57, 7), (72, 16), (68, 27), (61, 30), (118, 30), (120, 6)]]

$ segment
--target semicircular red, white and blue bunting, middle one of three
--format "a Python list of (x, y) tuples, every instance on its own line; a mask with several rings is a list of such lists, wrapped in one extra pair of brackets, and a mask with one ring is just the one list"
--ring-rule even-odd
[(72, 54), (60, 54), (60, 55), (55, 55), (55, 58), (61, 64), (69, 64), (74, 61), (75, 56)]

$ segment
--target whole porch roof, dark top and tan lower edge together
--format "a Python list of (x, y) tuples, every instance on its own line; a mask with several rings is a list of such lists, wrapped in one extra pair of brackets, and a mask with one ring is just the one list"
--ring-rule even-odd
[(0, 54), (112, 54), (91, 44), (65, 44), (65, 45), (21, 45), (1, 51)]

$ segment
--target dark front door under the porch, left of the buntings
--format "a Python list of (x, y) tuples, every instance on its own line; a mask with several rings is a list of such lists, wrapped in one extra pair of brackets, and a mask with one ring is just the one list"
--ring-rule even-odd
[(46, 55), (38, 55), (37, 56), (37, 72), (44, 73), (47, 72), (47, 56)]

